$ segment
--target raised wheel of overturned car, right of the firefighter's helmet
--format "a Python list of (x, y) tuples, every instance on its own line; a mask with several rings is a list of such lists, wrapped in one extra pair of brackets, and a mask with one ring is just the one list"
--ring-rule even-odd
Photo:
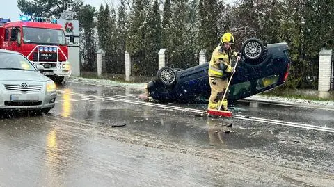
[(256, 60), (264, 53), (264, 44), (256, 38), (250, 38), (241, 47), (242, 54), (248, 60)]

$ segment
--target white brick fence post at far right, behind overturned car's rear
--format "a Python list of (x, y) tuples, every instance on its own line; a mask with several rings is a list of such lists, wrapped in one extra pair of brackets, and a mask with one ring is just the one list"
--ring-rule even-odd
[(326, 97), (331, 90), (332, 50), (321, 49), (319, 52), (318, 91), (320, 97)]

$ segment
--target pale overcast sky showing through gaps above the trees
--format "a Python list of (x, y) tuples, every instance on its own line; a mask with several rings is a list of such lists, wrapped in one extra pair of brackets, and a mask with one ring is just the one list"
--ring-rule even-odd
[[(234, 0), (228, 0), (227, 2), (231, 2)], [(114, 6), (118, 6), (119, 1), (118, 0), (84, 0), (86, 4), (90, 4), (91, 6), (95, 6), (97, 10), (99, 10), (101, 3), (105, 2), (111, 2)], [(3, 4), (6, 3), (6, 6), (3, 6)], [(19, 14), (21, 13), (19, 11), (19, 8), (17, 8), (17, 2), (16, 0), (0, 0), (0, 17), (3, 19), (10, 18), (12, 21), (17, 21), (19, 19)]]

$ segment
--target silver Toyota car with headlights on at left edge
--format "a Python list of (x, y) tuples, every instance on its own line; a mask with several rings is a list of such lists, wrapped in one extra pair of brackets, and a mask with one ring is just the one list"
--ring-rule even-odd
[(56, 84), (22, 54), (0, 49), (0, 111), (48, 113), (56, 101)]

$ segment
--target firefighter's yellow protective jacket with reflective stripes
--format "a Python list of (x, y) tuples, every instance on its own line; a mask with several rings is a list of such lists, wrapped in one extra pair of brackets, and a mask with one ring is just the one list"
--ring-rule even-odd
[[(209, 64), (209, 76), (223, 78), (224, 73), (232, 72), (232, 56), (238, 55), (236, 51), (226, 50), (222, 45), (218, 45), (218, 47), (214, 49), (214, 52), (212, 52)], [(223, 70), (221, 67), (223, 67)]]

